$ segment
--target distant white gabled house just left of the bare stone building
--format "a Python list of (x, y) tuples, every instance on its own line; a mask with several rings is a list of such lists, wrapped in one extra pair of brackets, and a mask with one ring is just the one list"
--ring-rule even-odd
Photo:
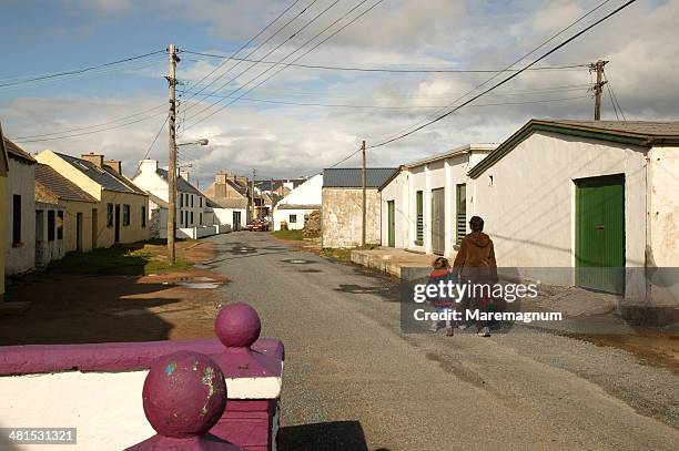
[(323, 174), (316, 174), (283, 197), (274, 207), (274, 230), (281, 229), (283, 221), (291, 230), (304, 228), (304, 218), (321, 209), (322, 189)]

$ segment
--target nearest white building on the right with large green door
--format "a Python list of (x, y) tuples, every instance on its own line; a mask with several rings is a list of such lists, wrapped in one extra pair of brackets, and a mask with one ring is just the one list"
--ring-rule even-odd
[(498, 266), (677, 307), (677, 174), (679, 122), (533, 120), (472, 168), (467, 195)]

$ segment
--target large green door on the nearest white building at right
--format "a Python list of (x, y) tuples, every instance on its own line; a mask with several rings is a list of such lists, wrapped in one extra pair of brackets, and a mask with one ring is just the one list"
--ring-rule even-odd
[(576, 283), (625, 293), (625, 176), (576, 181)]

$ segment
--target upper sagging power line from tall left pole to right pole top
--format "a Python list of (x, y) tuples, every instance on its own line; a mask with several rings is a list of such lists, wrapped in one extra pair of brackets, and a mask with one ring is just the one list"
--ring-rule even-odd
[[(266, 61), (266, 60), (250, 60), (246, 58), (233, 58), (233, 57), (224, 57), (219, 54), (211, 53), (202, 53), (202, 52), (193, 52), (191, 50), (182, 50), (182, 53), (191, 53), (202, 57), (210, 58), (223, 58), (233, 61), (245, 61), (253, 63), (263, 63), (263, 64), (278, 64), (276, 61)], [(354, 71), (354, 72), (387, 72), (387, 73), (496, 73), (498, 69), (392, 69), (392, 68), (362, 68), (362, 66), (341, 66), (341, 65), (327, 65), (327, 64), (297, 64), (291, 63), (288, 64), (291, 68), (303, 68), (303, 69), (324, 69), (331, 71)], [(531, 68), (531, 71), (558, 71), (558, 70), (571, 70), (571, 69), (581, 69), (587, 68), (588, 64), (567, 64), (567, 65), (555, 65), (555, 66), (539, 66)], [(515, 72), (518, 69), (505, 69), (499, 70), (501, 72)]]

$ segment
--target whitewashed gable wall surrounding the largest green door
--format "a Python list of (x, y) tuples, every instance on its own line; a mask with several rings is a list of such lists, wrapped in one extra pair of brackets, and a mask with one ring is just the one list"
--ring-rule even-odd
[[(475, 183), (474, 213), (486, 222), (498, 266), (574, 267), (574, 180), (625, 174), (628, 267), (643, 266), (646, 170), (642, 147), (535, 133)], [(556, 273), (553, 273), (556, 274)], [(572, 285), (568, 279), (543, 280)], [(632, 284), (634, 285), (634, 284)], [(628, 284), (629, 289), (637, 289)]]

